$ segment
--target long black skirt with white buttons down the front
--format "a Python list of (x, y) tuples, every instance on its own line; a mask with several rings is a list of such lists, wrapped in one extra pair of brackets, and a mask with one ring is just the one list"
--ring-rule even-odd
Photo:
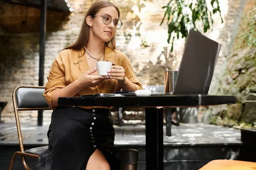
[(47, 132), (48, 149), (38, 158), (38, 170), (85, 170), (99, 149), (115, 170), (118, 166), (115, 131), (109, 109), (58, 107)]

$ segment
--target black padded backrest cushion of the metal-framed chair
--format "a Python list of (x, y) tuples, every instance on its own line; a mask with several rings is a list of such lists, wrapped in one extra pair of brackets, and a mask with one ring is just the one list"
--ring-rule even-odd
[(18, 108), (48, 108), (44, 88), (19, 88), (16, 92)]

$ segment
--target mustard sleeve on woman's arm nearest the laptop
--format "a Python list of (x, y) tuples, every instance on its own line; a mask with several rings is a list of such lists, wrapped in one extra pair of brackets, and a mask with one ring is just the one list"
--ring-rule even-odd
[(125, 70), (125, 77), (127, 77), (135, 86), (136, 90), (143, 89), (142, 84), (138, 81), (136, 74), (134, 72), (134, 69), (131, 65), (130, 59), (124, 54), (124, 57), (122, 59), (122, 65)]

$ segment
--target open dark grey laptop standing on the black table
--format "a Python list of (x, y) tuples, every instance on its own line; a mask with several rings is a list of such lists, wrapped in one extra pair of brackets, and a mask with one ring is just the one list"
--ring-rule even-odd
[(190, 30), (173, 94), (208, 94), (221, 44)]

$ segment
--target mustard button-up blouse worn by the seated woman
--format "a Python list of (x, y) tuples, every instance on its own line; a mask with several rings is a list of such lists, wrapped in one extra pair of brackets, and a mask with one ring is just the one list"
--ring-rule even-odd
[[(67, 49), (61, 51), (52, 62), (52, 65), (47, 75), (47, 83), (45, 85), (44, 98), (48, 105), (54, 110), (56, 107), (52, 107), (52, 95), (60, 88), (64, 88), (70, 83), (76, 81), (85, 71), (90, 70), (85, 54), (83, 50), (75, 51)], [(131, 61), (121, 51), (113, 50), (109, 47), (105, 48), (104, 61), (110, 61), (113, 65), (120, 65), (125, 70), (125, 76), (134, 83), (136, 90), (142, 89), (141, 83), (137, 80), (134, 70), (131, 65)], [(119, 85), (116, 79), (106, 79), (99, 83), (95, 87), (83, 88), (75, 96), (86, 94), (98, 94), (98, 93), (113, 93), (120, 91), (122, 87)], [(112, 108), (112, 107), (99, 107), (99, 106), (79, 106), (80, 108)]]

